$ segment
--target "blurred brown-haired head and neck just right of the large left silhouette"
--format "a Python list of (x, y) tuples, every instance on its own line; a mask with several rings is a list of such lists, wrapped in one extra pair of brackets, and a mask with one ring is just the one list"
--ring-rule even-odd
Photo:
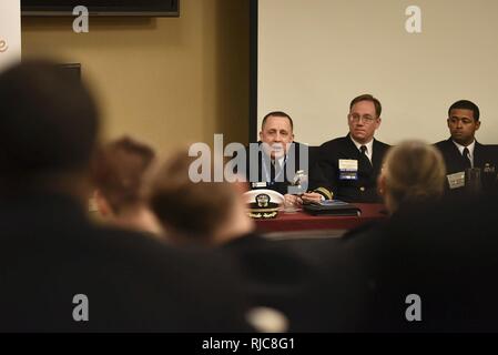
[(155, 153), (149, 145), (122, 138), (101, 146), (92, 163), (93, 194), (102, 217), (120, 227), (161, 235), (146, 203)]

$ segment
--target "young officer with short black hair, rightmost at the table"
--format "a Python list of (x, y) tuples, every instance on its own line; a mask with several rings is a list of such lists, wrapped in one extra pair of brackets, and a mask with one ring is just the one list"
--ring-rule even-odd
[(448, 181), (448, 187), (455, 193), (465, 186), (465, 172), (470, 168), (481, 171), (488, 166), (496, 166), (492, 149), (476, 141), (476, 132), (480, 128), (479, 108), (471, 101), (460, 100), (448, 110), (448, 129), (451, 136), (436, 143), (441, 152)]

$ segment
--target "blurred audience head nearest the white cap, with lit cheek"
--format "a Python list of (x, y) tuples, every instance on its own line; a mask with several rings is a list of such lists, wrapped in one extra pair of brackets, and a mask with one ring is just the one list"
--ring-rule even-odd
[(186, 151), (166, 161), (154, 179), (151, 206), (176, 242), (220, 244), (253, 231), (242, 199), (245, 185), (197, 182), (189, 176), (196, 160)]

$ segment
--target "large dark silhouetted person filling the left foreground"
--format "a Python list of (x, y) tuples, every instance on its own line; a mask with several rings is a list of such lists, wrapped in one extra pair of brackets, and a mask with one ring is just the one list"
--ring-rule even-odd
[(26, 61), (0, 74), (0, 331), (248, 329), (228, 261), (90, 223), (84, 85)]

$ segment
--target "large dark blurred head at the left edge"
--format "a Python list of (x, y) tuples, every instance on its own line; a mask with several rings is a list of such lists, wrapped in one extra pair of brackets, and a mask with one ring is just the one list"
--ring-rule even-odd
[(82, 196), (99, 123), (89, 90), (60, 65), (24, 61), (0, 73), (0, 193)]

